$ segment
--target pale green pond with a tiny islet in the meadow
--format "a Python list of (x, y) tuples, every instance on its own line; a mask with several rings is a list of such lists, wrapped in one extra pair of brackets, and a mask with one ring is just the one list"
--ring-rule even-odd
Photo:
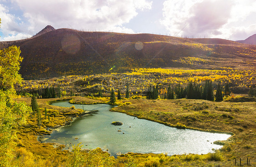
[[(52, 103), (54, 106), (70, 107), (68, 101)], [(74, 105), (81, 108), (82, 105)], [(167, 153), (168, 155), (195, 153), (206, 154), (222, 146), (213, 144), (216, 140), (226, 140), (231, 135), (177, 129), (163, 124), (138, 119), (124, 113), (109, 111), (114, 106), (108, 104), (84, 105), (84, 110), (98, 110), (85, 117), (78, 117), (69, 126), (56, 128), (46, 135), (43, 142), (72, 144), (82, 142), (83, 148), (97, 147), (115, 156), (116, 153)], [(122, 126), (111, 125), (113, 121), (123, 122)], [(120, 132), (118, 132), (120, 131)], [(75, 138), (78, 138), (77, 140)], [(72, 143), (72, 144), (71, 144)]]

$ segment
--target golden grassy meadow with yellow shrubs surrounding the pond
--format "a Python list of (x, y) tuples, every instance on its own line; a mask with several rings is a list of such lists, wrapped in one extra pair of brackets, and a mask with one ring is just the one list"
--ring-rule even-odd
[[(46, 80), (23, 81), (16, 87), (20, 94), (16, 101), (31, 104), (31, 94), (46, 87), (61, 85), (61, 98), (38, 98), (41, 113), (41, 127), (37, 126), (36, 116), (27, 118), (23, 127), (17, 128), (16, 148), (12, 164), (17, 166), (87, 166), (87, 167), (229, 167), (235, 159), (249, 158), (256, 165), (256, 100), (247, 95), (250, 86), (256, 85), (255, 70), (180, 70), (180, 69), (136, 69), (128, 73), (112, 73), (91, 76), (67, 76)], [(230, 83), (230, 96), (224, 101), (206, 101), (196, 99), (164, 99), (168, 86), (180, 83), (186, 86), (189, 81), (204, 83), (206, 80), (216, 84)], [(159, 98), (146, 99), (149, 85), (159, 86)], [(125, 98), (129, 88), (130, 96)], [(73, 151), (62, 151), (58, 143), (41, 143), (38, 136), (51, 134), (55, 127), (67, 125), (73, 118), (80, 116), (82, 110), (49, 105), (51, 101), (68, 100), (72, 104), (108, 103), (110, 90), (121, 90), (121, 100), (111, 111), (123, 112), (141, 119), (156, 121), (170, 127), (188, 128), (208, 132), (230, 133), (227, 141), (218, 141), (223, 145), (215, 153), (205, 155), (165, 154), (121, 154), (117, 158), (109, 157), (107, 152), (97, 148), (81, 150), (73, 146)], [(102, 90), (103, 97), (98, 96)], [(75, 96), (70, 96), (71, 92)], [(215, 92), (215, 91), (214, 91)], [(83, 97), (82, 97), (83, 96)], [(47, 116), (45, 115), (45, 109)], [(48, 116), (49, 115), (49, 116)], [(124, 141), (125, 142), (125, 141)], [(71, 165), (73, 164), (73, 165)]]

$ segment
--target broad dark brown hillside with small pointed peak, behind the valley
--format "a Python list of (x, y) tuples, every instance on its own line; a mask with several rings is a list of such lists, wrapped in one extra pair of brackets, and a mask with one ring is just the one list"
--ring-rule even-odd
[(46, 26), (30, 39), (0, 42), (20, 46), (25, 79), (123, 72), (140, 67), (220, 69), (256, 66), (256, 46), (222, 39), (154, 34), (55, 30)]

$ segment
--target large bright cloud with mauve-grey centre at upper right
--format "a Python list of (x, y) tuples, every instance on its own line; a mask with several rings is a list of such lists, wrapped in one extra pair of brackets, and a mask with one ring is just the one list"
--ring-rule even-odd
[(171, 35), (238, 40), (256, 33), (255, 9), (255, 0), (165, 0), (160, 22)]

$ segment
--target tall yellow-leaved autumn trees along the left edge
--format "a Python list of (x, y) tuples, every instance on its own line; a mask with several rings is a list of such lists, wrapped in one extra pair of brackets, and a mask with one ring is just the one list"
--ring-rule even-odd
[(16, 137), (15, 128), (26, 122), (26, 116), (31, 111), (25, 103), (16, 103), (14, 85), (21, 83), (20, 48), (10, 46), (0, 50), (0, 166), (10, 166), (13, 157), (13, 140)]

